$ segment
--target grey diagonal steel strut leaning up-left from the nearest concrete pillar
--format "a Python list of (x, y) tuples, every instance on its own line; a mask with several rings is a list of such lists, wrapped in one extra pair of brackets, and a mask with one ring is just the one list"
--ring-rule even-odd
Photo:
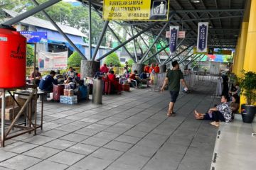
[[(33, 4), (35, 4), (36, 6), (39, 6), (38, 2), (36, 0), (32, 0), (33, 1)], [(84, 54), (82, 54), (82, 52), (78, 49), (77, 46), (75, 46), (75, 44), (70, 40), (70, 38), (68, 38), (67, 35), (65, 35), (65, 33), (63, 32), (63, 30), (60, 29), (60, 27), (53, 21), (52, 18), (50, 18), (50, 16), (48, 15), (48, 13), (46, 13), (46, 11), (42, 11), (43, 14), (46, 16), (46, 18), (48, 18), (48, 20), (50, 21), (50, 23), (53, 24), (53, 26), (58, 30), (58, 32), (63, 35), (63, 37), (65, 38), (65, 40), (68, 41), (68, 43), (70, 43), (70, 45), (75, 48), (75, 51), (77, 51), (79, 53), (79, 55), (81, 57), (83, 57), (85, 60), (87, 60), (87, 58), (85, 57)]]

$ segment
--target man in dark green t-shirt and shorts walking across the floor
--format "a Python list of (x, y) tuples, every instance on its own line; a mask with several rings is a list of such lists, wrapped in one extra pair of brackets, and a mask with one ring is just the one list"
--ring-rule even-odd
[(175, 116), (174, 113), (174, 103), (178, 98), (179, 89), (180, 89), (180, 81), (181, 84), (185, 87), (185, 91), (188, 91), (188, 86), (186, 85), (186, 81), (184, 80), (181, 69), (179, 69), (179, 64), (177, 61), (171, 63), (173, 69), (169, 69), (166, 73), (166, 78), (164, 79), (164, 84), (161, 88), (161, 92), (164, 91), (164, 87), (168, 84), (168, 89), (171, 94), (171, 102), (169, 103), (168, 116)]

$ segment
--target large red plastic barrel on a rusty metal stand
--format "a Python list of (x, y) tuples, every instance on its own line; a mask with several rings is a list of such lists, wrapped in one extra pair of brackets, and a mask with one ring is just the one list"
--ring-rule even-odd
[(0, 28), (0, 89), (26, 85), (26, 38), (15, 30)]

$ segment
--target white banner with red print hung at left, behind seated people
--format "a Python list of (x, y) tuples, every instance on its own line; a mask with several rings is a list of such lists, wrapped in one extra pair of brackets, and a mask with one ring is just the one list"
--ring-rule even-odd
[(38, 52), (38, 67), (40, 71), (67, 69), (68, 51), (66, 52)]

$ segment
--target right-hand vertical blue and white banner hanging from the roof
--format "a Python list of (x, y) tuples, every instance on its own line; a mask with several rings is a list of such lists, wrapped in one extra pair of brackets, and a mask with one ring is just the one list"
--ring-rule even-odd
[(197, 52), (207, 52), (208, 22), (198, 23)]

